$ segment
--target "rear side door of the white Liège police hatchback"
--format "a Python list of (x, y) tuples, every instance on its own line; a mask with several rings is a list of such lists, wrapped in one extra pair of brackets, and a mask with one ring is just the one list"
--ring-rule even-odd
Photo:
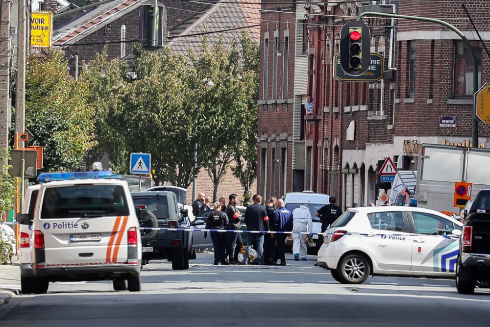
[(410, 271), (412, 244), (408, 220), (402, 211), (368, 213), (371, 230), (363, 235), (364, 247), (383, 271)]

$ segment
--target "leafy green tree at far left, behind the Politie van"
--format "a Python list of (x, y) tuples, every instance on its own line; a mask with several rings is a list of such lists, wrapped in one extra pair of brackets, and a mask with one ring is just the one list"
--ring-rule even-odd
[(25, 127), (44, 147), (45, 172), (78, 168), (94, 141), (94, 107), (88, 104), (88, 83), (75, 81), (66, 70), (64, 53), (31, 56), (26, 74)]

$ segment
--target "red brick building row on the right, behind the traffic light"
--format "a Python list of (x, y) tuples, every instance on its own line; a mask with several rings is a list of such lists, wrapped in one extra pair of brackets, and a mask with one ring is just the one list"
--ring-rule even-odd
[[(284, 12), (286, 9), (273, 2), (263, 1), (263, 9), (271, 11), (263, 11), (262, 19), (278, 20), (278, 26), (286, 25), (289, 19)], [(304, 111), (294, 109), (293, 115), (267, 111), (264, 106), (273, 98), (261, 94), (259, 99), (262, 117), (259, 136), (263, 136), (258, 142), (258, 162), (262, 163), (262, 170), (266, 141), (269, 145), (274, 142), (274, 138), (271, 141), (268, 138), (273, 132), (277, 135), (281, 126), (293, 130), (292, 166), (288, 166), (285, 173), (286, 176), (293, 175), (291, 181), (288, 177), (288, 191), (302, 187), (336, 195), (343, 208), (367, 205), (377, 199), (379, 188), (386, 186), (378, 183), (380, 160), (391, 157), (398, 169), (417, 170), (418, 144), (468, 146), (471, 143), (472, 66), (463, 41), (442, 25), (369, 18), (365, 21), (371, 30), (371, 52), (378, 52), (384, 58), (383, 79), (378, 82), (341, 82), (332, 77), (333, 56), (339, 53), (341, 27), (360, 12), (367, 11), (364, 6), (380, 4), (384, 10), (446, 19), (458, 27), (475, 47), (480, 85), (490, 81), (490, 58), (459, 1), (296, 2), (294, 10), (289, 11), (305, 12), (306, 9), (306, 15), (301, 14), (302, 20), (296, 15), (296, 52), (290, 57), (294, 61), (290, 63), (290, 67), (294, 67), (294, 76), (290, 75), (289, 80), (295, 85), (294, 104), (303, 107), (305, 99), (297, 92), (302, 88), (303, 95), (313, 95), (314, 113), (306, 116)], [(381, 7), (374, 8), (380, 10)], [(490, 2), (471, 1), (466, 8), (482, 38), (489, 44)], [(369, 9), (372, 11), (373, 7)], [(262, 23), (261, 41), (264, 41), (267, 28), (270, 30), (270, 24), (273, 23)], [(301, 35), (298, 35), (299, 31)], [(298, 44), (302, 44), (301, 54), (297, 51)], [(265, 48), (261, 45), (262, 57)], [(273, 55), (273, 50), (269, 49), (269, 69), (274, 65)], [(261, 69), (264, 75), (264, 67)], [(269, 76), (273, 75), (269, 73)], [(261, 80), (261, 90), (265, 84), (269, 89), (272, 85), (270, 81)], [(281, 116), (289, 121), (281, 120), (279, 126), (275, 117)], [(445, 122), (453, 119), (451, 124)], [(479, 131), (479, 146), (489, 148), (489, 128), (480, 123)], [(266, 153), (272, 155), (270, 147)], [(267, 169), (272, 169), (269, 162)], [(259, 174), (262, 175), (270, 179), (270, 174)], [(303, 182), (298, 182), (301, 179)], [(270, 180), (267, 183), (260, 180), (260, 192), (274, 185)], [(279, 180), (278, 176), (276, 180)]]

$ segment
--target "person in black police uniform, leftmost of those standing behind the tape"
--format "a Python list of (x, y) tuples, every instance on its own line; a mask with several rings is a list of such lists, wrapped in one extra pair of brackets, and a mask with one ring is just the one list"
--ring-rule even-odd
[[(206, 229), (227, 229), (229, 226), (228, 216), (221, 211), (220, 202), (214, 203), (214, 210), (208, 216), (206, 220)], [(211, 241), (213, 241), (214, 248), (214, 264), (217, 265), (221, 262), (222, 265), (226, 264), (226, 233), (212, 231)], [(204, 238), (207, 238), (207, 233), (204, 233)]]

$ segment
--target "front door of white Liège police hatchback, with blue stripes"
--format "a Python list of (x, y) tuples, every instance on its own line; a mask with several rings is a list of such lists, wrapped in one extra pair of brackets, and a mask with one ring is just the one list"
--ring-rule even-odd
[(412, 271), (453, 273), (459, 253), (458, 238), (449, 237), (454, 224), (435, 214), (411, 212), (413, 237)]

